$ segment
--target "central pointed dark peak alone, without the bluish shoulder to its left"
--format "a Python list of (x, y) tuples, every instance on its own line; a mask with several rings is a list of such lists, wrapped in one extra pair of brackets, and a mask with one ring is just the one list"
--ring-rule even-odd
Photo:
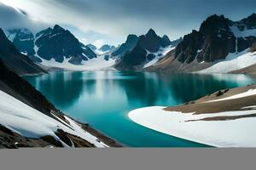
[(154, 65), (174, 47), (166, 35), (159, 37), (153, 29), (150, 29), (146, 35), (137, 38), (135, 47), (119, 59), (115, 68), (118, 70), (137, 70)]

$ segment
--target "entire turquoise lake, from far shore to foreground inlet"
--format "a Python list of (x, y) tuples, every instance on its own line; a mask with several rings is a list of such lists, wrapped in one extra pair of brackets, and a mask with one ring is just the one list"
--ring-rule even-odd
[(56, 108), (132, 147), (204, 147), (131, 122), (128, 112), (152, 105), (179, 105), (256, 82), (244, 75), (60, 71), (25, 77)]

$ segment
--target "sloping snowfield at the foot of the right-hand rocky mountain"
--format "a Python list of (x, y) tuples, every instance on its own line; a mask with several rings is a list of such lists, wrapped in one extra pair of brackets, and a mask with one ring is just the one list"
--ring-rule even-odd
[(248, 49), (241, 53), (229, 54), (226, 59), (219, 61), (211, 67), (198, 71), (199, 73), (228, 73), (237, 71), (247, 66), (256, 64), (256, 52), (251, 53)]

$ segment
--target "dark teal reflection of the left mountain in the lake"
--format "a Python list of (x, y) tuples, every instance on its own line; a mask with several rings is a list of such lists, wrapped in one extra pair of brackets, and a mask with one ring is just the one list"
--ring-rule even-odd
[(82, 75), (82, 72), (55, 72), (43, 76), (26, 77), (26, 80), (56, 107), (66, 108), (76, 103), (83, 91)]

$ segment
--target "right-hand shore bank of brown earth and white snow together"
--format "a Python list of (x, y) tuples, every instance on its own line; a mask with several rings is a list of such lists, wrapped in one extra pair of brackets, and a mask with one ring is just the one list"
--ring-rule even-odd
[(184, 105), (140, 108), (130, 111), (128, 116), (143, 127), (201, 144), (255, 147), (255, 89), (255, 86), (233, 88), (226, 90), (226, 94), (217, 96), (217, 92)]

